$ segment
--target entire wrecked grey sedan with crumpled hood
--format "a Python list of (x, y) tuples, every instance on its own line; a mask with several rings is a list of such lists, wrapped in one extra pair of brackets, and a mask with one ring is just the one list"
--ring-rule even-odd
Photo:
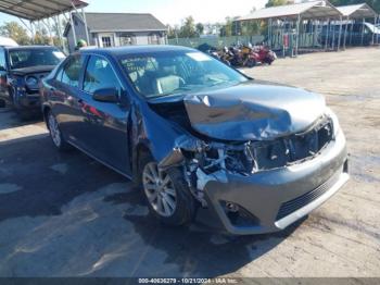
[(197, 216), (232, 234), (275, 232), (349, 179), (345, 138), (321, 96), (193, 49), (81, 50), (40, 95), (55, 147), (134, 179), (165, 224)]

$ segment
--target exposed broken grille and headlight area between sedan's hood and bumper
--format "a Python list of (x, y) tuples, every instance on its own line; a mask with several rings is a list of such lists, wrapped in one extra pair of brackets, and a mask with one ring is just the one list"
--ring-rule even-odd
[(333, 120), (322, 115), (302, 133), (270, 140), (205, 142), (183, 135), (159, 166), (181, 168), (192, 195), (207, 207), (204, 189), (208, 182), (228, 183), (228, 174), (244, 177), (313, 159), (334, 139), (334, 133)]

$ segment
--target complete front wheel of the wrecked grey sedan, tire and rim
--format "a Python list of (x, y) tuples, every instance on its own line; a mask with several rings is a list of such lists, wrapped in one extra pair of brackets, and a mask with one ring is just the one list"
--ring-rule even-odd
[(172, 168), (160, 171), (150, 156), (142, 158), (141, 183), (150, 212), (170, 226), (189, 224), (195, 214), (197, 201), (183, 178), (183, 173)]

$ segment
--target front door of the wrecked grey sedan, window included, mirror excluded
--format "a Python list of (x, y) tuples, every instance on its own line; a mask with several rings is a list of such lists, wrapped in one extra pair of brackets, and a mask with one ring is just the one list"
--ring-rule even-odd
[(81, 95), (86, 121), (85, 144), (97, 158), (129, 175), (129, 107), (93, 100), (93, 94), (104, 88), (117, 89), (119, 98), (126, 96), (110, 61), (101, 55), (91, 55), (85, 71)]

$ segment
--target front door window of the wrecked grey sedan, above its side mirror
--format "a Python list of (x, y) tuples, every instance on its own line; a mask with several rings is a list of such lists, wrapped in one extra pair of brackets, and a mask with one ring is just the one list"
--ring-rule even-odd
[(103, 88), (116, 88), (118, 91), (122, 89), (110, 62), (101, 57), (91, 55), (86, 69), (84, 90), (93, 94)]

